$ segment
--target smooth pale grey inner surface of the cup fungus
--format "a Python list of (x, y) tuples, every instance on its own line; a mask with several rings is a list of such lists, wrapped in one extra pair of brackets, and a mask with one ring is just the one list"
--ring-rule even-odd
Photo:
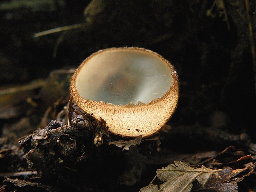
[(172, 84), (171, 71), (158, 56), (141, 50), (107, 50), (87, 60), (77, 79), (85, 99), (124, 105), (160, 98)]

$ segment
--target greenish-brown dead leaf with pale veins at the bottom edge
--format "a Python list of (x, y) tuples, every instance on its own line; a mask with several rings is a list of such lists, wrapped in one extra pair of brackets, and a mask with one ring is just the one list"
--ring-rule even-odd
[(156, 171), (155, 178), (157, 177), (164, 183), (154, 185), (154, 178), (149, 186), (143, 187), (140, 192), (190, 192), (194, 180), (204, 186), (213, 173), (218, 171), (221, 171), (221, 169), (212, 170), (204, 166), (192, 168), (180, 161), (174, 161), (174, 164)]

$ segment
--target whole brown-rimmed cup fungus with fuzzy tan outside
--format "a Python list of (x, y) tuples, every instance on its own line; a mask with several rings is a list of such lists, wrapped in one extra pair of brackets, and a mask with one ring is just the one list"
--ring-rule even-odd
[(109, 131), (142, 137), (158, 131), (178, 102), (174, 67), (155, 52), (138, 47), (109, 48), (93, 53), (71, 78), (70, 91), (81, 109)]

